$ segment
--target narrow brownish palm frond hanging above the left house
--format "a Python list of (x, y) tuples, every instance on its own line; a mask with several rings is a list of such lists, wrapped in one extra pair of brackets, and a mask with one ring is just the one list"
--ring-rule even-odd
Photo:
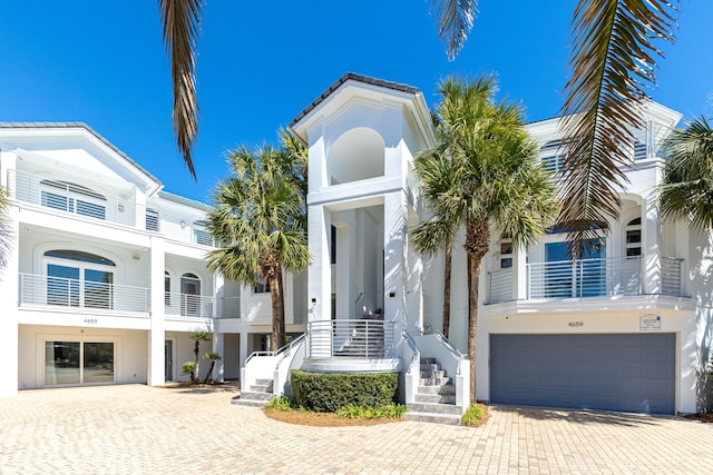
[(201, 30), (203, 4), (203, 0), (158, 0), (164, 42), (170, 57), (174, 132), (178, 149), (194, 179), (196, 170), (192, 152), (198, 135), (196, 42)]

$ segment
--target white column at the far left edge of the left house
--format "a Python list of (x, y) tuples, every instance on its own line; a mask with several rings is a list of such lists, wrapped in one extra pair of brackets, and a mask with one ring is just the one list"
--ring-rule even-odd
[(18, 221), (19, 209), (10, 205), (7, 209), (7, 226), (11, 240), (7, 249), (4, 268), (0, 269), (0, 301), (3, 303), (0, 317), (0, 362), (2, 362), (2, 378), (0, 378), (0, 396), (16, 396), (18, 394), (18, 273), (20, 270)]

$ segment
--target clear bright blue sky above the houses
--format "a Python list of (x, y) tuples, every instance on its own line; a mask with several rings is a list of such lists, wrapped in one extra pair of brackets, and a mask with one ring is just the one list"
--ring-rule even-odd
[[(713, 109), (713, 2), (683, 1), (677, 41), (661, 44), (654, 100), (692, 118)], [(546, 7), (543, 7), (546, 4)], [(450, 75), (497, 73), (528, 120), (557, 115), (574, 0), (481, 0), (449, 62), (427, 0), (208, 0), (198, 44), (199, 138), (193, 181), (170, 123), (170, 78), (157, 1), (4, 1), (0, 121), (84, 121), (156, 175), (207, 200), (225, 151), (276, 131), (346, 71), (406, 82), (437, 102)]]

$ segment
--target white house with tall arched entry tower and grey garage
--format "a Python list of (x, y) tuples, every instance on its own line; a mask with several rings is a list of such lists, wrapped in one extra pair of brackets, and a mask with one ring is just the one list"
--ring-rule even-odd
[[(713, 240), (685, 222), (662, 221), (654, 194), (664, 168), (658, 151), (681, 115), (651, 101), (643, 113), (621, 220), (602, 230), (598, 250), (573, 261), (557, 229), (527, 249), (494, 237), (478, 303), (479, 400), (662, 414), (709, 404)], [(551, 170), (560, 161), (559, 125), (555, 118), (527, 126)], [(440, 403), (461, 414), (468, 402), (465, 251), (455, 247), (447, 340), (440, 335), (442, 256), (422, 258), (409, 237), (428, 218), (412, 160), (436, 140), (422, 93), (346, 73), (291, 127), (309, 147), (314, 264), (307, 334), (283, 366), (398, 370), (412, 413), (449, 413)], [(276, 385), (275, 394), (284, 387)]]

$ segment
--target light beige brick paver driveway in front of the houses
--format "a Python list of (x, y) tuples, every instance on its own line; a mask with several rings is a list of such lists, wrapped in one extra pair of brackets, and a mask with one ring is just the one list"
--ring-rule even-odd
[(304, 427), (231, 405), (234, 387), (140, 385), (0, 399), (0, 473), (712, 473), (713, 427), (491, 408), (480, 428)]

